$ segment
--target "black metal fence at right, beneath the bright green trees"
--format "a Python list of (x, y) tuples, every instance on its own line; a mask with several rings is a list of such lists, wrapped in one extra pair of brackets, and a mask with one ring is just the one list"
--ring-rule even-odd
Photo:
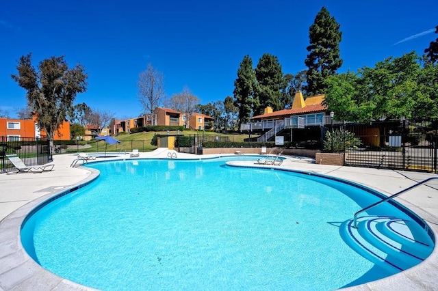
[(357, 148), (346, 148), (345, 165), (438, 171), (436, 122), (402, 120), (339, 127), (354, 133), (361, 141)]

